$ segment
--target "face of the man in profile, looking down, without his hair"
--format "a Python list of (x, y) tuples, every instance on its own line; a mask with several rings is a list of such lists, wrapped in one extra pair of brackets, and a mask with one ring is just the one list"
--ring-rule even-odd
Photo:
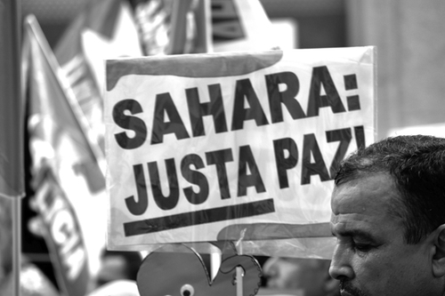
[(387, 174), (346, 182), (332, 195), (337, 238), (329, 274), (342, 296), (441, 295), (432, 292), (431, 244), (405, 244), (401, 217), (390, 214), (399, 193)]

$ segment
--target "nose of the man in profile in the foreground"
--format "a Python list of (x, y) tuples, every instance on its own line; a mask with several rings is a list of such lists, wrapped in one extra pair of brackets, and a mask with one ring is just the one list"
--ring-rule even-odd
[(352, 250), (345, 245), (337, 243), (332, 255), (329, 275), (336, 280), (352, 279), (354, 277), (351, 265), (352, 255)]

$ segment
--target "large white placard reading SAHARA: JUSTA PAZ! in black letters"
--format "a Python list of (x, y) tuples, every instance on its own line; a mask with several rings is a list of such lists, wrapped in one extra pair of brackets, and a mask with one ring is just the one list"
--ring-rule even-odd
[(328, 237), (336, 168), (375, 137), (371, 46), (107, 60), (106, 76), (110, 249)]

